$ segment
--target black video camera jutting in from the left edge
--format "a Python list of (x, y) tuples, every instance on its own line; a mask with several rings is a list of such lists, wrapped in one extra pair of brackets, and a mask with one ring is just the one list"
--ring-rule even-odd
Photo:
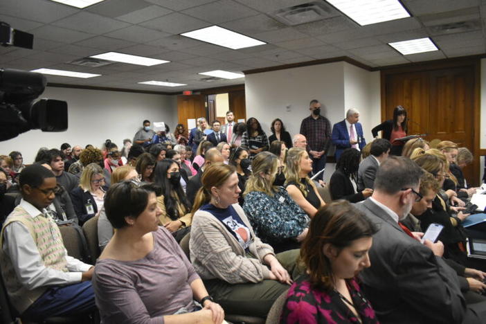
[[(0, 44), (32, 48), (29, 37), (0, 22)], [(21, 40), (18, 39), (21, 35)], [(16, 40), (17, 39), (17, 40)], [(30, 47), (29, 47), (30, 44)], [(46, 77), (40, 73), (0, 69), (0, 141), (14, 138), (30, 129), (64, 132), (68, 127), (67, 102), (37, 100), (46, 89)]]

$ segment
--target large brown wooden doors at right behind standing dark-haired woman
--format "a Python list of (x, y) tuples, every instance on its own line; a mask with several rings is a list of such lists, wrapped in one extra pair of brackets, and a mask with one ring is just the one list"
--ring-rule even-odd
[[(386, 73), (384, 119), (402, 105), (408, 112), (408, 134), (428, 134), (432, 141), (453, 141), (475, 155), (463, 170), (471, 184), (479, 178), (479, 147), (476, 143), (476, 66), (447, 67), (411, 73)], [(383, 114), (385, 112), (385, 114)]]

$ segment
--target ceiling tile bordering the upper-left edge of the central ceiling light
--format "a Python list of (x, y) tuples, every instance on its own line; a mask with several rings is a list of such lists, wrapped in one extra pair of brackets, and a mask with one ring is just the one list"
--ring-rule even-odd
[(210, 24), (206, 21), (183, 15), (179, 12), (173, 12), (169, 15), (145, 21), (141, 24), (141, 26), (162, 30), (165, 33), (172, 34), (180, 34), (190, 30), (207, 27), (209, 25)]

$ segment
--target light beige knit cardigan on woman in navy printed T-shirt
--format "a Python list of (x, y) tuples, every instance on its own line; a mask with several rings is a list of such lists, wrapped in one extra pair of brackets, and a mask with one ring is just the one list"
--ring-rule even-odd
[(247, 258), (243, 247), (213, 214), (197, 210), (190, 230), (190, 260), (202, 279), (221, 279), (231, 284), (261, 282), (269, 279), (269, 268), (263, 258), (273, 249), (255, 236), (251, 224), (238, 204), (234, 204), (238, 215), (249, 228), (253, 242), (250, 252), (256, 258)]

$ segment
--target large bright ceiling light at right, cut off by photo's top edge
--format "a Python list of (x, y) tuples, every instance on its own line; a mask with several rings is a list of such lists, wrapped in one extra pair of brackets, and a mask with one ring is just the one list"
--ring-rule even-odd
[(410, 17), (398, 0), (326, 0), (361, 26)]

